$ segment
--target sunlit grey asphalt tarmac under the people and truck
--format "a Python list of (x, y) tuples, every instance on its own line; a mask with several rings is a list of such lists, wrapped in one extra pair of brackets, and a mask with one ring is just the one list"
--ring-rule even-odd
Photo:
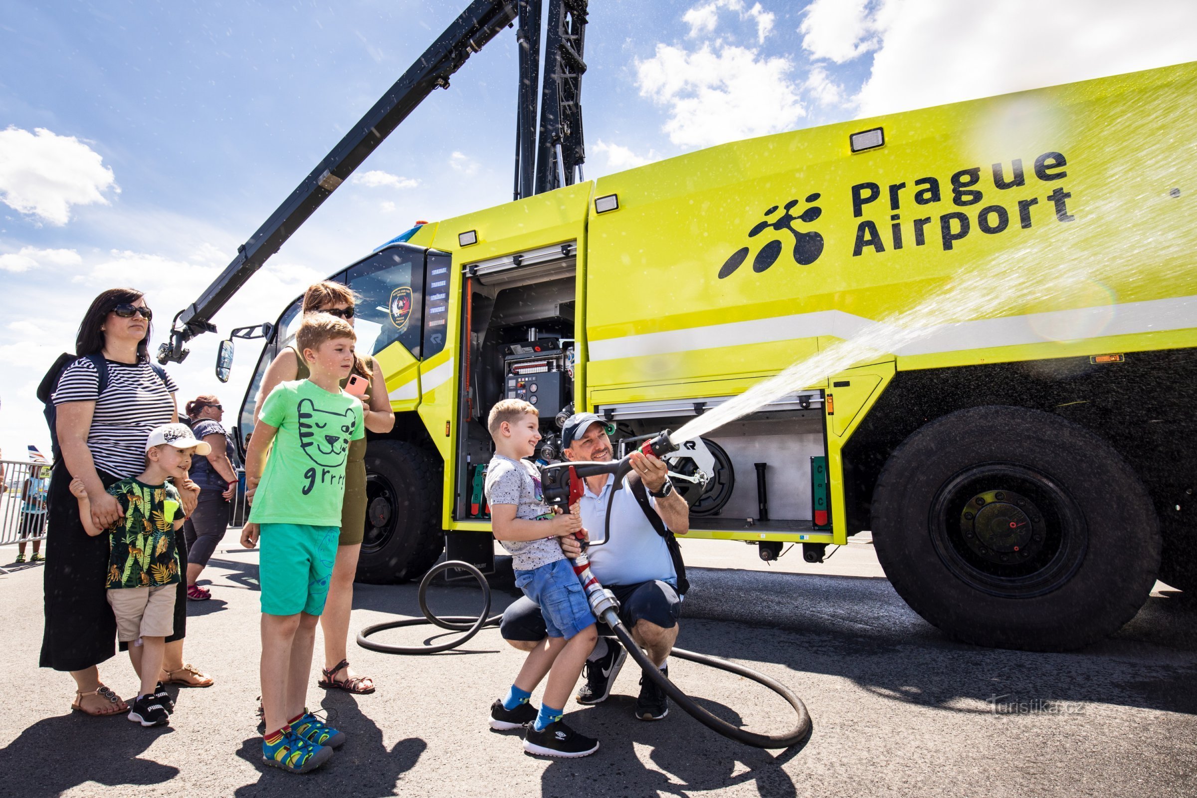
[[(754, 547), (730, 542), (687, 541), (683, 552), (693, 589), (679, 645), (790, 684), (814, 720), (806, 745), (745, 748), (676, 707), (664, 720), (637, 720), (630, 664), (606, 703), (567, 707), (569, 724), (601, 739), (597, 754), (528, 756), (516, 733), (486, 725), (522, 662), (487, 629), (433, 657), (352, 646), (377, 693), (326, 693), (316, 676), (309, 690), (348, 742), (309, 775), (266, 768), (255, 714), (257, 554), (230, 534), (201, 579), (213, 598), (189, 604), (187, 659), (217, 683), (180, 690), (169, 727), (69, 712), (69, 677), (37, 668), (41, 566), (0, 575), (0, 796), (1197, 794), (1197, 602), (1166, 585), (1111, 639), (1041, 654), (946, 639), (894, 593), (867, 541), (822, 565), (795, 549), (770, 566)], [(0, 548), (0, 562), (14, 554)], [(438, 613), (480, 604), (473, 586), (433, 592)], [(492, 611), (514, 597), (496, 590)], [(396, 615), (419, 615), (414, 585), (358, 586), (354, 629)], [(399, 629), (383, 639), (438, 634)], [(124, 696), (135, 690), (122, 657), (101, 675)], [(678, 659), (670, 676), (747, 727), (792, 723), (780, 699), (747, 680)]]

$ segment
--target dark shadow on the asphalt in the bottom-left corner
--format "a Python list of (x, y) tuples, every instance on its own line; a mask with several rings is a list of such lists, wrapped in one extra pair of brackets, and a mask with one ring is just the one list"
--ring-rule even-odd
[[(139, 759), (154, 741), (174, 730), (144, 729), (124, 718), (123, 712), (110, 718), (72, 712), (38, 720), (0, 751), (10, 794), (59, 796), (87, 781), (108, 787), (147, 786), (178, 775), (176, 767)], [(97, 744), (98, 736), (103, 744)]]

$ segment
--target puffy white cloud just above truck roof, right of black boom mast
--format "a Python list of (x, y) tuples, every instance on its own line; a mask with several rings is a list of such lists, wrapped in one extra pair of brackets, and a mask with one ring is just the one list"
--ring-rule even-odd
[(710, 44), (688, 51), (657, 44), (656, 55), (636, 62), (642, 97), (669, 108), (664, 132), (683, 147), (778, 133), (806, 115), (794, 65), (757, 50)]

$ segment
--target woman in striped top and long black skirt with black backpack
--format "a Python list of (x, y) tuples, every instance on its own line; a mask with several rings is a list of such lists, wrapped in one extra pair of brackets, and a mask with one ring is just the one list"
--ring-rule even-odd
[[(73, 476), (83, 481), (91, 500), (92, 523), (108, 528), (122, 513), (107, 488), (140, 474), (150, 431), (178, 420), (175, 380), (150, 364), (152, 317), (140, 291), (110, 288), (96, 297), (79, 325), (75, 339), (79, 358), (62, 370), (53, 395), (62, 455), (50, 474), (47, 498), (45, 548), (54, 556), (47, 556), (44, 572), (41, 665), (71, 671), (77, 686), (71, 708), (90, 715), (117, 714), (128, 706), (101, 683), (97, 668), (115, 653), (116, 641), (116, 620), (104, 595), (108, 537), (92, 537), (84, 531), (79, 502), (71, 494), (69, 483)], [(107, 374), (103, 385), (97, 363), (103, 364)], [(183, 510), (189, 513), (195, 507), (199, 487), (190, 480), (176, 487)], [(177, 546), (186, 558), (182, 531)], [(206, 687), (211, 680), (183, 665), (186, 626), (186, 586), (181, 580), (175, 602), (175, 633), (166, 638), (165, 665), (174, 674), (163, 681), (199, 682), (194, 686)], [(177, 677), (183, 671), (186, 677)]]

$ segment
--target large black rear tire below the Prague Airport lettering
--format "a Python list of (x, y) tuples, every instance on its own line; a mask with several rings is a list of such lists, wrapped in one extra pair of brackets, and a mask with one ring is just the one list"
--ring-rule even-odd
[(873, 540), (911, 609), (967, 642), (1064, 651), (1150, 593), (1160, 530), (1135, 471), (1050, 413), (959, 410), (920, 427), (877, 479)]

